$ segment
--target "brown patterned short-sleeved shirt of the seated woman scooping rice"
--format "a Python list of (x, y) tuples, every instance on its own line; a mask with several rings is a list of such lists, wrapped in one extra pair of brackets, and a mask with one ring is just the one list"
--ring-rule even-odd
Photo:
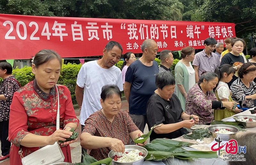
[[(93, 136), (116, 138), (121, 140), (124, 145), (130, 144), (129, 133), (139, 130), (124, 110), (120, 110), (116, 114), (112, 123), (103, 115), (101, 110), (98, 110), (89, 116), (84, 124), (83, 132), (90, 133)], [(99, 161), (108, 158), (110, 150), (110, 147), (92, 149), (87, 150), (87, 154)]]

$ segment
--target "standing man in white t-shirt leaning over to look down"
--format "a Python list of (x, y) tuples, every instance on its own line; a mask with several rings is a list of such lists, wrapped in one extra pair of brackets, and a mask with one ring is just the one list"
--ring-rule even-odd
[(102, 86), (115, 84), (120, 91), (123, 91), (122, 72), (115, 66), (122, 52), (123, 48), (118, 42), (109, 41), (103, 49), (103, 57), (100, 60), (90, 61), (82, 65), (77, 75), (75, 90), (76, 101), (81, 108), (81, 131), (84, 129), (84, 121), (92, 113), (102, 108), (100, 105)]

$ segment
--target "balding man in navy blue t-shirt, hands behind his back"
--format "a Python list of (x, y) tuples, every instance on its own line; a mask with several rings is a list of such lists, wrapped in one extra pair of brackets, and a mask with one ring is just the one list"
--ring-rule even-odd
[(147, 123), (146, 107), (148, 99), (156, 90), (156, 74), (158, 64), (155, 60), (157, 44), (152, 39), (143, 41), (142, 57), (133, 62), (126, 71), (124, 94), (129, 103), (129, 114), (140, 131), (144, 131)]

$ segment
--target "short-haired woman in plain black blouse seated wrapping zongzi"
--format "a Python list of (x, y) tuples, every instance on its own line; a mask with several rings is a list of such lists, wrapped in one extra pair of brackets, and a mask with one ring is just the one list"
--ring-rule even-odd
[[(199, 122), (196, 115), (188, 115), (183, 112), (179, 98), (173, 94), (175, 89), (175, 79), (171, 72), (165, 71), (156, 75), (155, 93), (149, 98), (147, 103), (147, 119), (149, 127), (156, 127), (150, 135), (150, 140), (156, 138), (178, 138), (187, 134), (185, 128), (191, 128)], [(194, 117), (195, 120), (190, 119)]]

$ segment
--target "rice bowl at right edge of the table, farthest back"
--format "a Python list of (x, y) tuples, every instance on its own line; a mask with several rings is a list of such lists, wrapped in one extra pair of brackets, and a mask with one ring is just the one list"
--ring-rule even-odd
[(254, 115), (236, 115), (233, 117), (236, 123), (241, 123), (246, 128), (256, 127), (256, 116)]

